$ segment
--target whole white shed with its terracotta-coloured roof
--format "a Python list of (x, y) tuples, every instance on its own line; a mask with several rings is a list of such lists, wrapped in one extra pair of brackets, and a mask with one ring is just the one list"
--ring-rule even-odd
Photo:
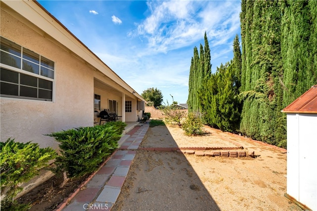
[(317, 210), (317, 85), (282, 112), (287, 114), (287, 193), (306, 209)]

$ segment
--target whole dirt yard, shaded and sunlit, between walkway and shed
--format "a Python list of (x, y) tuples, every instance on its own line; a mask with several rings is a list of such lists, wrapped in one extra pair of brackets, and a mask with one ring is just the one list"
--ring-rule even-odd
[(138, 151), (112, 211), (301, 210), (286, 193), (286, 151), (205, 127), (185, 136), (171, 126), (149, 128), (141, 147), (232, 147), (256, 158), (198, 157)]

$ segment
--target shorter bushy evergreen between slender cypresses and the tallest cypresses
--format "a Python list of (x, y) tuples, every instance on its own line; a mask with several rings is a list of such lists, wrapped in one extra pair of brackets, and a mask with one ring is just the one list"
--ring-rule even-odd
[(239, 38), (236, 36), (233, 61), (225, 65), (221, 64), (214, 74), (207, 74), (205, 87), (201, 92), (205, 122), (223, 131), (236, 131), (239, 128), (241, 110), (238, 98), (241, 75), (239, 45)]

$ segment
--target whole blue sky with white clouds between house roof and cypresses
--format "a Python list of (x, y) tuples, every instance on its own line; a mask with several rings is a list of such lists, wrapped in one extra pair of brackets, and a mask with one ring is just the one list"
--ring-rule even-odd
[(211, 71), (232, 59), (240, 0), (39, 0), (140, 95), (158, 88), (186, 103), (194, 47), (207, 32)]

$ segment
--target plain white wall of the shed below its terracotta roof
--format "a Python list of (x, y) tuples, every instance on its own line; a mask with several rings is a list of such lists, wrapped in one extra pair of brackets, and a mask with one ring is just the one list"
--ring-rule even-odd
[(287, 193), (317, 210), (317, 114), (287, 114)]

